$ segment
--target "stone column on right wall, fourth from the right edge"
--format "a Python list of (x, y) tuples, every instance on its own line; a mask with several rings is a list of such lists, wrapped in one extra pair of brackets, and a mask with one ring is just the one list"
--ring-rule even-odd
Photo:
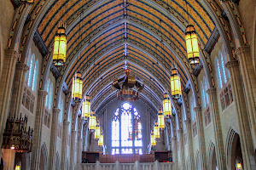
[(195, 115), (196, 115), (196, 127), (197, 127), (197, 135), (198, 135), (198, 140), (199, 140), (201, 169), (207, 170), (207, 152), (206, 152), (203, 119), (202, 119), (202, 115), (201, 115), (201, 106), (196, 106), (194, 108), (194, 111), (195, 111)]

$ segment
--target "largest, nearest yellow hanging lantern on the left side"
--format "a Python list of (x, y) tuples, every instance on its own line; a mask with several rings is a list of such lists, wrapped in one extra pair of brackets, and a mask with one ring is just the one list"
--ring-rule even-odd
[(63, 26), (58, 28), (55, 35), (53, 64), (56, 66), (64, 65), (66, 61), (67, 38), (65, 28)]

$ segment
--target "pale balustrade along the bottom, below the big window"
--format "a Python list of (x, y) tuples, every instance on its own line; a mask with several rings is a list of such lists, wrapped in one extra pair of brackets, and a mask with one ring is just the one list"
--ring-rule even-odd
[(149, 162), (140, 163), (135, 161), (134, 163), (101, 163), (96, 161), (96, 163), (81, 163), (79, 170), (174, 170), (173, 162)]

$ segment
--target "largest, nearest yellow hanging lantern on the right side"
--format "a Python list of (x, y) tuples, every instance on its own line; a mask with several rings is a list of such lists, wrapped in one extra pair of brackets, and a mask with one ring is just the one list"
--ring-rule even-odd
[(195, 68), (195, 65), (198, 65), (200, 62), (199, 46), (195, 27), (193, 25), (187, 26), (185, 35), (189, 64), (192, 68)]

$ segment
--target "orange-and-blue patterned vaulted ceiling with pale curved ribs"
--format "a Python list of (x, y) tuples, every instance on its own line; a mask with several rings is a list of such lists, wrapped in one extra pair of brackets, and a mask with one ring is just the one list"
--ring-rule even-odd
[[(201, 0), (52, 0), (38, 26), (47, 48), (55, 32), (66, 24), (66, 72), (71, 89), (75, 71), (82, 71), (83, 94), (90, 94), (94, 109), (115, 99), (114, 77), (131, 74), (145, 82), (140, 97), (155, 110), (170, 87), (172, 66), (177, 66), (184, 87), (191, 74), (184, 40), (185, 27), (195, 25), (201, 48), (215, 27)], [(40, 1), (35, 0), (32, 11)], [(220, 8), (218, 1), (215, 5)], [(124, 52), (127, 52), (126, 56)], [(190, 77), (193, 77), (191, 74)]]

